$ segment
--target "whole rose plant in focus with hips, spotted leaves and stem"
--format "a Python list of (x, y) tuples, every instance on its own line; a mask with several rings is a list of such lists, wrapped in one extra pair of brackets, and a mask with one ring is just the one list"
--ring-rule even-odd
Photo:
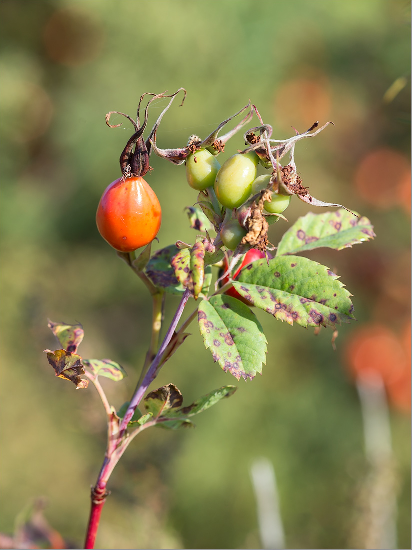
[[(321, 247), (342, 250), (375, 237), (369, 219), (343, 206), (315, 199), (297, 172), (296, 144), (316, 136), (331, 123), (321, 128), (316, 123), (288, 140), (273, 140), (272, 127), (263, 123), (259, 111), (249, 102), (206, 139), (190, 136), (184, 147), (160, 149), (158, 129), (179, 92), (185, 98), (184, 89), (173, 95), (142, 95), (136, 120), (118, 112), (106, 116), (111, 128), (120, 126), (109, 123), (112, 114), (126, 117), (133, 124), (134, 134), (120, 156), (121, 177), (108, 186), (98, 205), (97, 227), (120, 259), (145, 283), (153, 299), (149, 349), (130, 401), (119, 410), (109, 403), (99, 377), (118, 382), (126, 373), (113, 360), (85, 359), (78, 354), (84, 337), (80, 324), (50, 321), (48, 325), (59, 342), (59, 349), (46, 350), (56, 376), (72, 381), (76, 389), (86, 389), (90, 382), (94, 384), (107, 416), (108, 443), (91, 492), (85, 548), (94, 548), (109, 494), (109, 478), (136, 436), (155, 426), (177, 430), (191, 425), (195, 415), (237, 390), (235, 386), (224, 386), (190, 405), (183, 404), (182, 393), (173, 384), (148, 393), (161, 368), (188, 337), (189, 324), (197, 320), (206, 348), (225, 372), (238, 381), (252, 380), (262, 373), (267, 351), (267, 340), (254, 312), (257, 309), (291, 325), (331, 327), (334, 338), (339, 324), (354, 319), (351, 294), (339, 277), (301, 254)], [(142, 102), (148, 95), (153, 97), (147, 102), (141, 120)], [(150, 106), (158, 98), (170, 101), (144, 139)], [(242, 114), (240, 123), (219, 135), (223, 127)], [(245, 149), (234, 151), (221, 166), (218, 155), (253, 117), (257, 117), (259, 125), (244, 133)], [(151, 169), (149, 160), (153, 152), (172, 164), (186, 163), (189, 186), (200, 192), (195, 205), (187, 208), (191, 227), (198, 232), (195, 242), (177, 240), (154, 254), (152, 241), (160, 229), (162, 211), (155, 192), (144, 180)], [(283, 165), (281, 161), (288, 153), (290, 161)], [(256, 179), (258, 168), (267, 172), (265, 177)], [(312, 206), (338, 207), (338, 210), (308, 213), (275, 246), (268, 240), (269, 227), (281, 219), (287, 221), (283, 212), (293, 196)], [(136, 254), (138, 249), (142, 250)], [(214, 271), (217, 280), (213, 284)], [(180, 304), (161, 341), (165, 293), (179, 295)], [(180, 323), (191, 299), (197, 301), (197, 309)]]

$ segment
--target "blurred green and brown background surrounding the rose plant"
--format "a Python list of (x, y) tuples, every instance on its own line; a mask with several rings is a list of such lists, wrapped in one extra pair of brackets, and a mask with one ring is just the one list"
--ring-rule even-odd
[[(298, 171), (318, 199), (369, 217), (377, 239), (310, 255), (354, 295), (358, 322), (340, 327), (337, 351), (329, 329), (315, 337), (257, 312), (267, 365), (237, 383), (193, 324), (153, 389), (174, 383), (185, 404), (226, 384), (239, 390), (196, 430), (149, 430), (131, 445), (109, 483), (96, 548), (261, 548), (249, 474), (260, 456), (276, 470), (287, 548), (365, 548), (354, 525), (367, 521), (359, 490), (369, 466), (345, 349), (371, 323), (408, 339), (410, 2), (10, 1), (1, 10), (2, 532), (44, 496), (54, 529), (71, 548), (83, 544), (105, 419), (94, 388), (76, 392), (54, 377), (42, 353), (56, 347), (47, 318), (83, 323), (81, 355), (122, 364), (129, 377), (104, 386), (116, 408), (128, 400), (151, 304), (95, 226), (131, 135), (127, 121), (112, 130), (105, 115), (134, 117), (142, 93), (183, 86), (160, 147), (206, 137), (249, 98), (276, 139), (332, 120), (336, 128), (298, 145)], [(150, 127), (164, 106), (153, 106)], [(222, 160), (242, 147), (237, 136)], [(151, 166), (163, 205), (155, 249), (193, 242), (183, 210), (196, 193), (184, 166), (154, 156)], [(293, 200), (289, 224), (307, 211)], [(273, 226), (272, 243), (288, 227)], [(169, 296), (167, 320), (177, 303)], [(405, 387), (391, 401), (399, 548), (411, 545)]]

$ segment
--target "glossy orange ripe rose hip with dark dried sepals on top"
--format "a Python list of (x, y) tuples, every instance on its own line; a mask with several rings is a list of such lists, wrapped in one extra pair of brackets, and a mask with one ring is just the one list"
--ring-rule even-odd
[(143, 178), (117, 179), (103, 193), (96, 223), (103, 239), (119, 252), (151, 243), (160, 230), (162, 208)]

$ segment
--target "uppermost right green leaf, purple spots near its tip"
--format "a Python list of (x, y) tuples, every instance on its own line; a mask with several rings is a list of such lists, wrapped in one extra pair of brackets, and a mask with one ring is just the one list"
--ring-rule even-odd
[(283, 235), (277, 256), (316, 248), (343, 250), (375, 238), (369, 219), (355, 218), (346, 210), (314, 214), (310, 212)]

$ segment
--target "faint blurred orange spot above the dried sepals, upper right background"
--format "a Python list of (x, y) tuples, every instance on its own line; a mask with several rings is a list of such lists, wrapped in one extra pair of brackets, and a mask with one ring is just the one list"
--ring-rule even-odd
[(325, 78), (300, 78), (283, 84), (275, 100), (275, 116), (285, 126), (292, 123), (301, 133), (316, 122), (328, 119), (331, 95)]

